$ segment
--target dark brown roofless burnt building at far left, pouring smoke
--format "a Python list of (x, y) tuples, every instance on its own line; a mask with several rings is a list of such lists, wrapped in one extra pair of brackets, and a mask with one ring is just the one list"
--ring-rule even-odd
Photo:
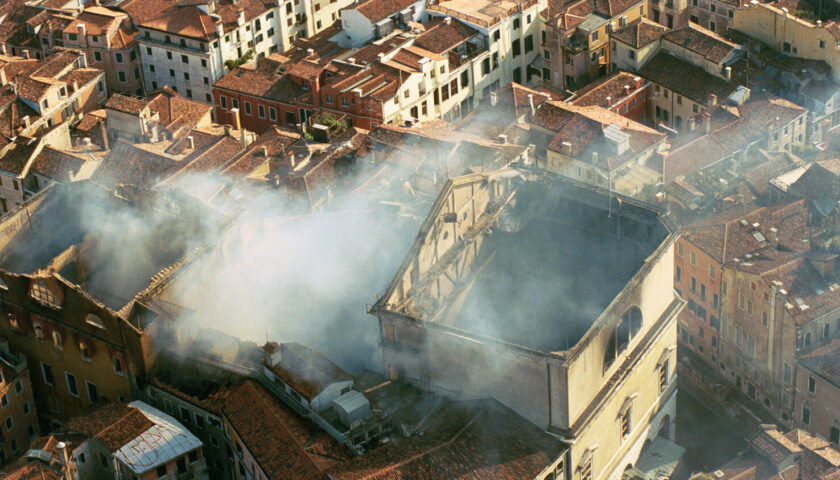
[(29, 362), (42, 429), (136, 397), (148, 325), (134, 299), (201, 238), (189, 205), (83, 181), (0, 220), (0, 335)]

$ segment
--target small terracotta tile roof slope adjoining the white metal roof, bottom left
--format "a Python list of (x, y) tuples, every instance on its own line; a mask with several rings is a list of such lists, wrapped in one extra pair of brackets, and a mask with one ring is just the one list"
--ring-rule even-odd
[(140, 410), (112, 402), (70, 420), (64, 429), (95, 437), (113, 453), (153, 425)]

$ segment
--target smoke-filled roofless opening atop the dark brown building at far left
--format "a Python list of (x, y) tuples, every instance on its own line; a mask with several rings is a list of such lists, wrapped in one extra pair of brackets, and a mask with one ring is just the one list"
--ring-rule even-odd
[(55, 184), (0, 223), (0, 268), (58, 273), (118, 310), (203, 242), (213, 218), (176, 195)]

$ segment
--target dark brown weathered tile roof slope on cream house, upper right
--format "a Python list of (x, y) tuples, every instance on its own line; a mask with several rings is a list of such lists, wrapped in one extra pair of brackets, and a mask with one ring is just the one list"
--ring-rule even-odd
[(702, 104), (708, 101), (709, 94), (723, 100), (737, 88), (736, 84), (663, 51), (642, 67), (639, 75)]

